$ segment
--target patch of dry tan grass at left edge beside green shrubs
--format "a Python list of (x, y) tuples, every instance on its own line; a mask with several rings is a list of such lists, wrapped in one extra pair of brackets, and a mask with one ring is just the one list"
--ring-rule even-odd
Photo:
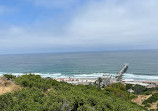
[(5, 80), (4, 78), (0, 78), (0, 95), (7, 92), (14, 92), (19, 89), (21, 89), (21, 87), (14, 84), (12, 81)]

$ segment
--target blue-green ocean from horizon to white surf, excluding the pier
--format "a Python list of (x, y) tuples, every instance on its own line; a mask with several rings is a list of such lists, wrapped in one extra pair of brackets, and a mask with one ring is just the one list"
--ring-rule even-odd
[(129, 64), (123, 79), (158, 81), (158, 50), (0, 55), (3, 74), (95, 78), (115, 76)]

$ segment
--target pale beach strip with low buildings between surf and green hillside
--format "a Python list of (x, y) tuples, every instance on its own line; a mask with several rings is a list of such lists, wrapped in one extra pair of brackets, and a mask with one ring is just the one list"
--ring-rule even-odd
[[(22, 76), (22, 75), (20, 75)], [(18, 77), (18, 76), (16, 76)], [(42, 76), (41, 76), (42, 77)], [(0, 76), (0, 80), (4, 78), (3, 76)], [(78, 78), (78, 77), (66, 77), (66, 78), (61, 78), (61, 77), (42, 77), (42, 78), (46, 78), (46, 79), (54, 79), (58, 82), (67, 82), (73, 85), (89, 85), (89, 84), (95, 84), (96, 82), (98, 82), (98, 77), (96, 78)], [(153, 88), (153, 87), (158, 87), (158, 81), (149, 81), (149, 80), (134, 80), (134, 79), (122, 79), (120, 81), (117, 81), (116, 78), (107, 78), (107, 77), (101, 77), (102, 78), (102, 85), (107, 86), (109, 84), (113, 84), (113, 83), (119, 83), (121, 82), (122, 84), (126, 85), (126, 84), (132, 84), (132, 85), (142, 85), (145, 86), (147, 88)], [(1, 82), (1, 81), (0, 81)]]

